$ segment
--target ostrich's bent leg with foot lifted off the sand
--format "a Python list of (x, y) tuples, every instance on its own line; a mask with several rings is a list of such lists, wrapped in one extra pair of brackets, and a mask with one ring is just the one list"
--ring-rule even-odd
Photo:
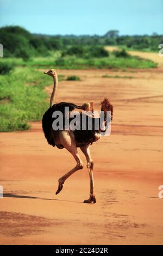
[(71, 169), (68, 173), (66, 173), (65, 175), (61, 176), (61, 178), (59, 178), (58, 190), (56, 191), (55, 194), (58, 194), (62, 190), (63, 184), (64, 184), (65, 180), (68, 179), (68, 177), (70, 177), (77, 170), (83, 169), (83, 167), (84, 167), (84, 164), (78, 154), (76, 143), (74, 142), (74, 138), (63, 132), (63, 133), (61, 133), (60, 141), (61, 141), (62, 145), (64, 145), (64, 147), (73, 155), (74, 159), (77, 162), (77, 165), (76, 165), (76, 167)]

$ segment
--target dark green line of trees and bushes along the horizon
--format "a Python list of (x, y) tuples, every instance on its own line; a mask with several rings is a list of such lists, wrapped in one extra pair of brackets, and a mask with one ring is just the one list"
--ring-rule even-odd
[[(19, 26), (0, 28), (0, 43), (4, 48), (4, 57), (21, 57), (24, 60), (32, 56), (48, 56), (49, 51), (61, 51), (65, 54), (89, 56), (107, 56), (104, 46), (125, 46), (132, 50), (158, 51), (163, 43), (163, 35), (119, 35), (118, 31), (109, 31), (99, 35), (40, 35), (32, 34)], [(73, 52), (74, 51), (74, 52)]]

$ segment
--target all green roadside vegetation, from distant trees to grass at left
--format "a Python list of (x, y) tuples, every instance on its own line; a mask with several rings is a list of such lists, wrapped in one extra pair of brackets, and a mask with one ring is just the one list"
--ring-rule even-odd
[[(48, 36), (31, 34), (18, 26), (0, 28), (0, 43), (4, 49), (4, 57), (0, 58), (0, 131), (26, 130), (28, 121), (41, 120), (48, 108), (43, 88), (52, 80), (37, 69), (125, 72), (127, 69), (156, 68), (156, 63), (130, 56), (126, 49), (158, 51), (162, 41), (161, 35), (118, 36), (116, 31), (103, 36)], [(105, 50), (107, 45), (120, 48), (108, 52)], [(59, 76), (59, 80), (64, 79), (64, 76)], [(66, 80), (80, 81), (80, 78), (69, 76)]]

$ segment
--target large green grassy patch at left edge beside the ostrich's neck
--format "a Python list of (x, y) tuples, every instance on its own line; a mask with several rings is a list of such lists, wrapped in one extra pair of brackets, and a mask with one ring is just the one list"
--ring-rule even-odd
[(1, 75), (0, 131), (27, 130), (28, 121), (41, 120), (49, 106), (43, 88), (52, 83), (51, 77), (31, 68), (16, 68), (9, 75)]

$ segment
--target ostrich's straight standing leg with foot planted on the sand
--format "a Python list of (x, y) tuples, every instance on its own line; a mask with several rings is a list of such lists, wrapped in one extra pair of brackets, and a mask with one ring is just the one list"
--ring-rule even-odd
[(93, 181), (93, 160), (91, 159), (89, 146), (90, 145), (86, 145), (85, 147), (80, 148), (86, 157), (87, 169), (89, 170), (89, 176), (90, 176), (90, 198), (87, 200), (84, 200), (84, 203), (95, 204), (96, 203), (96, 198), (95, 198), (96, 194), (95, 194), (94, 181)]

